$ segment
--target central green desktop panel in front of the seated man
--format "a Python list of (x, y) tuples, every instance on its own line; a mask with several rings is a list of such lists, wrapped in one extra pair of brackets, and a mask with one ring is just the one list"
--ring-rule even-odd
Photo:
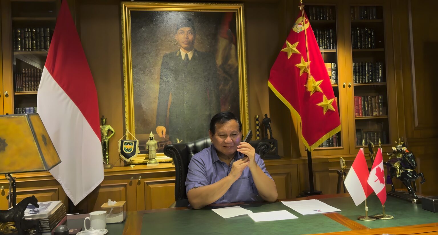
[(323, 232), (350, 231), (323, 214), (302, 215), (281, 202), (242, 205), (252, 212), (287, 210), (297, 219), (254, 222), (241, 215), (224, 219), (210, 207), (201, 210), (163, 211), (143, 214), (142, 235), (150, 234), (288, 234), (300, 235)]

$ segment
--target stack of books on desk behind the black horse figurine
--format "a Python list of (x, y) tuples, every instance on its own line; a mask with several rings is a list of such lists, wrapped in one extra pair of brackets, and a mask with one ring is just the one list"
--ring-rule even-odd
[(25, 210), (25, 220), (39, 220), (39, 231), (49, 235), (58, 225), (67, 221), (67, 210), (61, 201), (39, 202), (36, 208), (29, 204)]

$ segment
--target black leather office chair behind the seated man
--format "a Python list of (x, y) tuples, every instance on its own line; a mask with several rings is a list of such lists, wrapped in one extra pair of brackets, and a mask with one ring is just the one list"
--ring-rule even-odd
[[(171, 207), (185, 207), (189, 204), (185, 183), (190, 160), (193, 155), (211, 144), (210, 138), (205, 137), (193, 142), (171, 144), (164, 147), (164, 155), (171, 157), (175, 162), (175, 203)], [(250, 144), (260, 156), (269, 151), (270, 145), (268, 142), (251, 141)]]

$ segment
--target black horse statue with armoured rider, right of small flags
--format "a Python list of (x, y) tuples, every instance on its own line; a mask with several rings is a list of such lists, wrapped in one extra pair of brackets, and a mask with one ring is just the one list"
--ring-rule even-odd
[(418, 199), (415, 190), (412, 187), (412, 183), (421, 177), (420, 183), (426, 182), (423, 173), (417, 173), (415, 168), (417, 168), (417, 162), (415, 161), (415, 156), (413, 153), (409, 152), (405, 146), (404, 142), (396, 142), (396, 147), (392, 147), (392, 154), (389, 154), (388, 162), (385, 165), (388, 167), (388, 175), (386, 176), (386, 183), (391, 184), (391, 190), (394, 192), (394, 183), (392, 183), (392, 178), (396, 177), (406, 186), (408, 194)]

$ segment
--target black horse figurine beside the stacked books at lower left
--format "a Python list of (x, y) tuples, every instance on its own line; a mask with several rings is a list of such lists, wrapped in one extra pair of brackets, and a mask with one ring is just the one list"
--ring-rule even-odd
[(39, 232), (39, 221), (38, 223), (35, 223), (34, 221), (25, 220), (25, 210), (28, 204), (32, 204), (37, 208), (39, 207), (38, 200), (35, 196), (26, 197), (11, 209), (0, 210), (0, 223), (14, 222), (18, 235), (24, 235), (23, 232), (30, 228), (34, 228), (37, 232)]

